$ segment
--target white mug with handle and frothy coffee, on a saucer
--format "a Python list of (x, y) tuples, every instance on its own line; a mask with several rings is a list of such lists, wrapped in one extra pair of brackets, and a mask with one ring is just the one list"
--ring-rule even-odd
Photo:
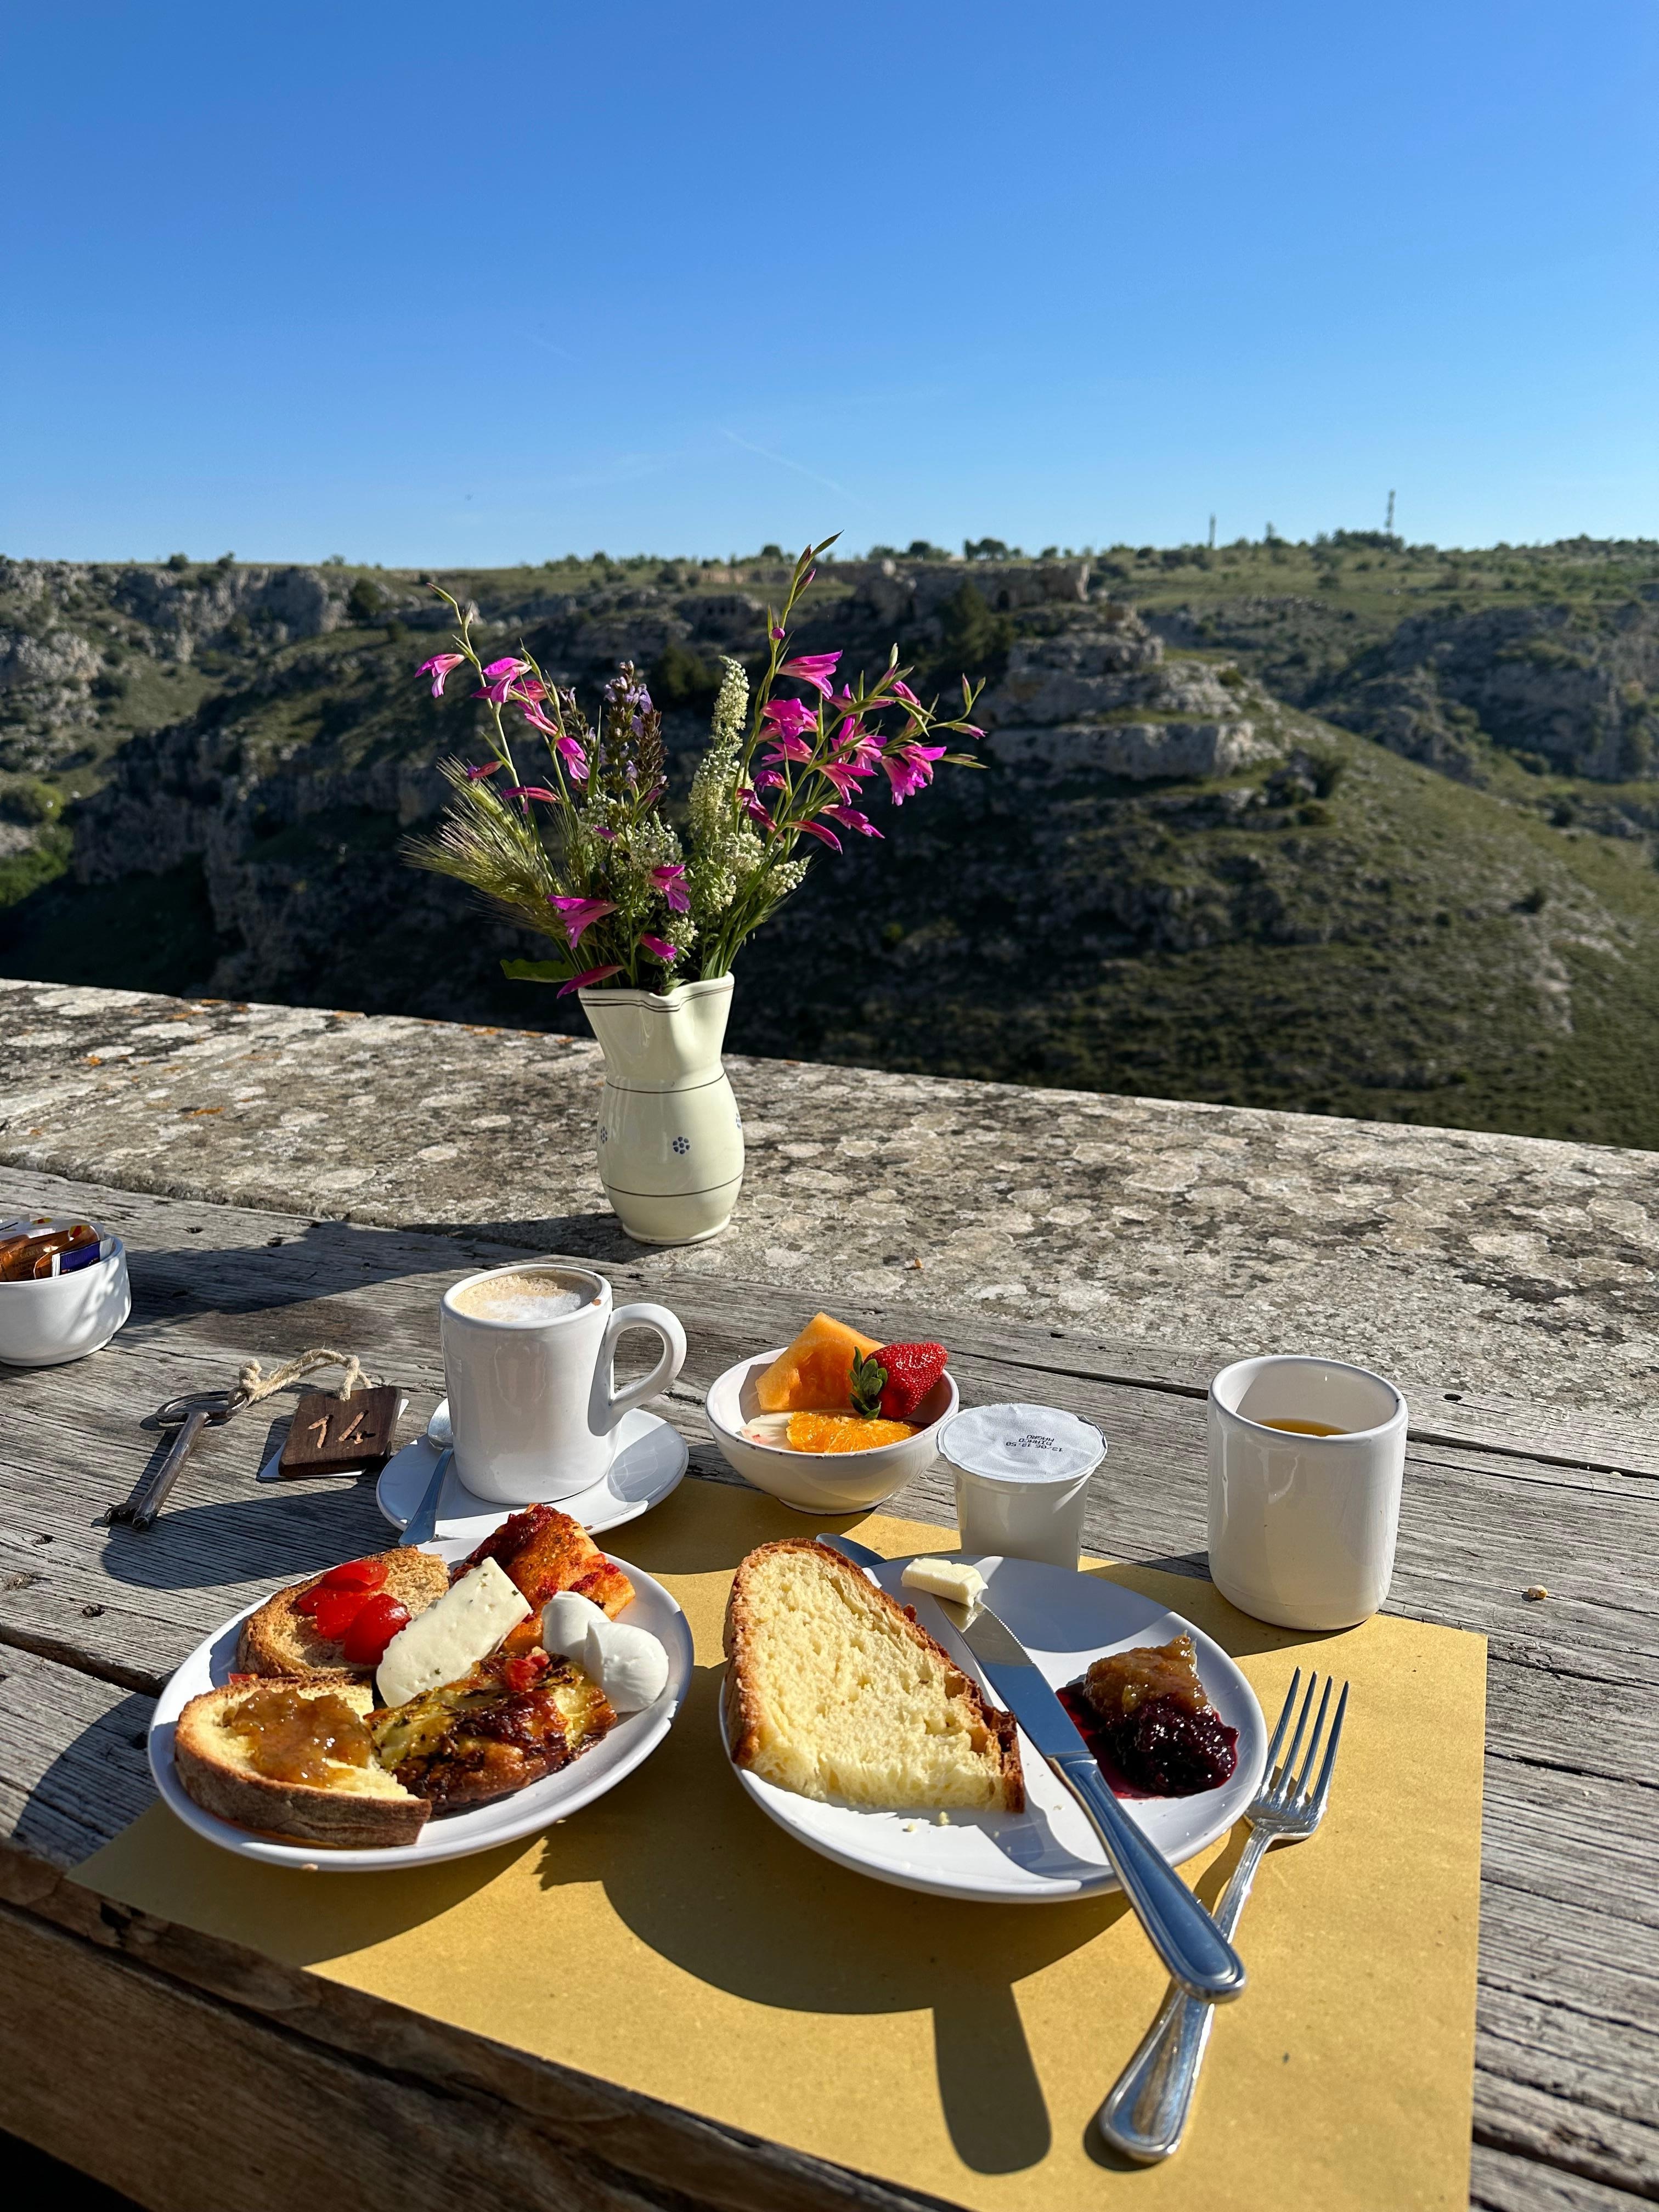
[[(617, 1389), (624, 1329), (655, 1332), (661, 1358)], [(586, 1267), (518, 1263), (445, 1292), (442, 1354), (456, 1473), (476, 1498), (526, 1506), (604, 1480), (622, 1418), (686, 1365), (686, 1332), (666, 1305), (613, 1312)]]

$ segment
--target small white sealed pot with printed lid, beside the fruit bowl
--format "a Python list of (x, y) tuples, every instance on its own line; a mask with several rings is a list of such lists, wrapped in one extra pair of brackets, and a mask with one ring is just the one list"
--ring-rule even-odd
[(1077, 1571), (1088, 1478), (1106, 1438), (1053, 1405), (975, 1405), (945, 1422), (962, 1551)]

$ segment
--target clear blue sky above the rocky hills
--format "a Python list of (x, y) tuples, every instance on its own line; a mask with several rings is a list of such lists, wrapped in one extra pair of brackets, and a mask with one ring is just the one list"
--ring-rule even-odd
[(1659, 535), (1659, 9), (7, 11), (0, 551)]

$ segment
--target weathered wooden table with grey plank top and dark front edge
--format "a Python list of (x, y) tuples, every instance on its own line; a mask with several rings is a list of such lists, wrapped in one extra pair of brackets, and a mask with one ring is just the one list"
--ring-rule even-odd
[[(920, 2205), (71, 1878), (150, 1803), (144, 1730), (186, 1650), (276, 1579), (385, 1535), (369, 1484), (254, 1489), (268, 1409), (208, 1431), (155, 1531), (97, 1526), (155, 1449), (139, 1416), (230, 1383), (250, 1354), (338, 1345), (425, 1418), (440, 1287), (522, 1248), (0, 1170), (0, 1210), (42, 1203), (126, 1234), (135, 1310), (95, 1360), (0, 1369), (0, 2124), (155, 2208)], [(834, 1285), (821, 1296), (860, 1318)], [(672, 1301), (690, 1358), (668, 1411), (695, 1473), (730, 1480), (701, 1391), (787, 1334), (803, 1292), (684, 1276)], [(949, 1334), (964, 1396), (1042, 1398), (1108, 1431), (1093, 1548), (1203, 1573), (1214, 1349), (1000, 1318)], [(1564, 1416), (1528, 1418), (1513, 1444), (1491, 1413), (1460, 1431), (1455, 1407), (1413, 1427), (1391, 1608), (1491, 1637), (1480, 2205), (1659, 2199), (1657, 1471), (1639, 1438), (1599, 1425), (1586, 1442)], [(953, 1520), (938, 1475), (894, 1511)], [(1528, 1604), (1535, 1584), (1551, 1595)], [(301, 2101), (303, 2128), (272, 2126)]]

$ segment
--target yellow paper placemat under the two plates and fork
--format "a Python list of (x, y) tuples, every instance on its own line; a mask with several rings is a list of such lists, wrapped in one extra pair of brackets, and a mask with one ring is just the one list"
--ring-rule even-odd
[[(77, 1878), (394, 2004), (984, 2212), (1462, 2208), (1475, 2031), (1484, 1637), (1265, 1628), (1208, 1582), (1106, 1568), (1206, 1628), (1279, 1712), (1354, 1694), (1321, 1834), (1267, 1856), (1186, 2148), (1108, 2163), (1091, 2119), (1164, 1995), (1117, 1898), (969, 1905), (847, 1874), (743, 1796), (717, 1730), (732, 1566), (799, 1515), (688, 1480), (619, 1531), (697, 1639), (657, 1754), (522, 1845), (409, 1874), (230, 1858), (164, 1807)], [(898, 1555), (947, 1533), (874, 1515)], [(1214, 1905), (1243, 1827), (1186, 1869)]]

